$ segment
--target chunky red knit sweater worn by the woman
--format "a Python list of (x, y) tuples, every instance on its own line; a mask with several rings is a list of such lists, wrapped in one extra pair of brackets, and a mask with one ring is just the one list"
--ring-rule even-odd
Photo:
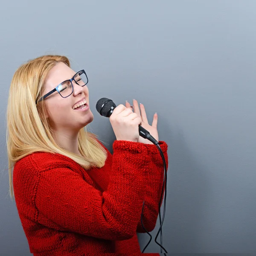
[[(159, 144), (168, 166), (167, 144)], [(113, 155), (107, 152), (105, 165), (90, 170), (44, 152), (15, 164), (15, 201), (31, 253), (141, 254), (136, 232), (145, 233), (140, 224), (143, 201), (143, 224), (150, 232), (158, 216), (163, 161), (151, 144), (115, 140)]]

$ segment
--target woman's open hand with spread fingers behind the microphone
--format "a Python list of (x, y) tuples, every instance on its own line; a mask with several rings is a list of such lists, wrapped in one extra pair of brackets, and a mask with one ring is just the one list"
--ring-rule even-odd
[[(126, 101), (125, 107), (129, 108), (130, 106), (131, 106), (130, 103), (128, 101)], [(140, 116), (142, 119), (142, 122), (140, 125), (143, 128), (145, 128), (147, 131), (149, 131), (149, 133), (158, 141), (157, 113), (154, 114), (152, 125), (149, 125), (144, 105), (140, 104), (140, 108), (139, 108), (139, 104), (138, 104), (137, 100), (134, 99), (133, 106), (134, 106), (134, 113), (137, 113), (137, 115)], [(144, 143), (144, 144), (154, 144), (151, 141), (144, 139), (141, 136), (139, 137), (138, 142)]]

